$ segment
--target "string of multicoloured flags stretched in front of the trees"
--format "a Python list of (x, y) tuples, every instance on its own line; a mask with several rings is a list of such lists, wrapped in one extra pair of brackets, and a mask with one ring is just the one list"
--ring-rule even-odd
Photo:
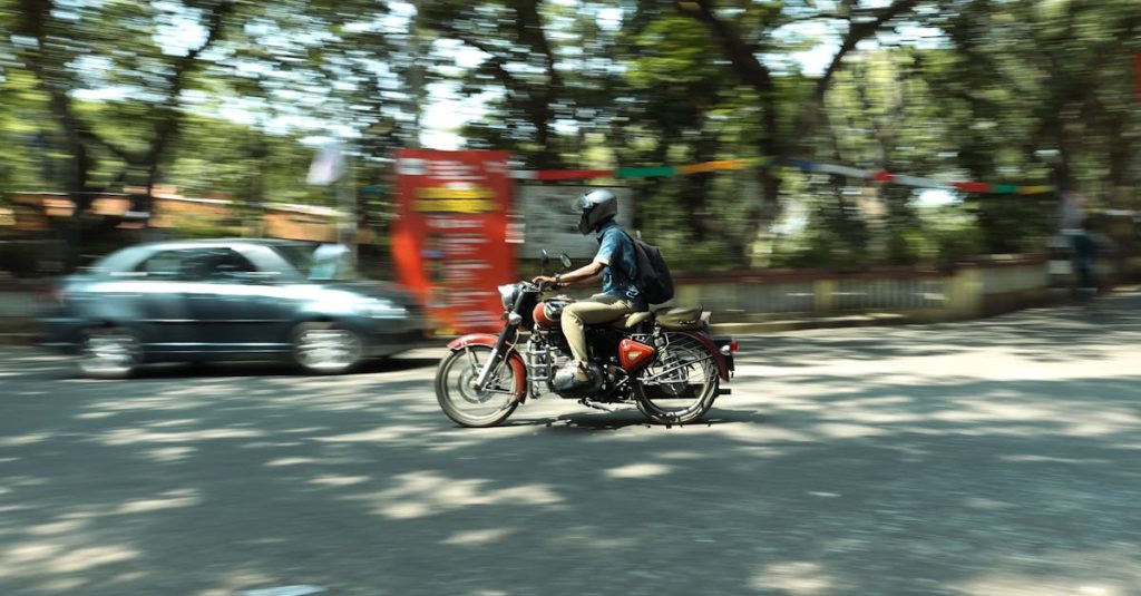
[[(617, 168), (613, 170), (513, 170), (511, 178), (517, 180), (588, 180), (592, 178), (664, 178), (670, 176), (689, 176), (711, 171), (743, 170), (745, 168), (772, 168), (777, 167), (775, 158), (752, 158), (744, 160), (721, 160), (691, 163), (688, 166), (657, 166), (650, 168)], [(1014, 184), (989, 184), (980, 182), (944, 182), (934, 178), (922, 178), (919, 176), (906, 176), (892, 174), (883, 170), (863, 170), (848, 166), (835, 166), (832, 163), (816, 163), (807, 160), (788, 160), (783, 166), (795, 168), (806, 172), (835, 174), (849, 178), (860, 178), (884, 184), (898, 184), (913, 186), (916, 188), (933, 188), (940, 191), (960, 191), (966, 193), (989, 193), (989, 194), (1046, 194), (1055, 191), (1054, 186), (1019, 186)]]

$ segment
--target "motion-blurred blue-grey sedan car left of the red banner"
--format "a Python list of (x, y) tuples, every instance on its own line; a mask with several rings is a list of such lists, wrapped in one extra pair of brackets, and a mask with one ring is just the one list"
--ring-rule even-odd
[(64, 277), (42, 305), (43, 344), (96, 377), (148, 362), (285, 360), (340, 373), (427, 345), (408, 292), (357, 277), (343, 247), (196, 240), (126, 248)]

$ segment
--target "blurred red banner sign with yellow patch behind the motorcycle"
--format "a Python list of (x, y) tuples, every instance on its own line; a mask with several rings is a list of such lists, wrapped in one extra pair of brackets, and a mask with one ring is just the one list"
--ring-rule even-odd
[(393, 256), (399, 280), (442, 333), (497, 331), (503, 306), (496, 287), (518, 281), (507, 242), (508, 153), (400, 150), (396, 170)]

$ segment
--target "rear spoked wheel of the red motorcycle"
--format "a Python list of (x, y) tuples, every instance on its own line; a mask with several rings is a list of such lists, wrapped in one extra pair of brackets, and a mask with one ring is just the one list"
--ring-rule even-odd
[(717, 397), (718, 372), (713, 354), (696, 339), (666, 333), (666, 345), (638, 377), (638, 410), (658, 424), (701, 419)]

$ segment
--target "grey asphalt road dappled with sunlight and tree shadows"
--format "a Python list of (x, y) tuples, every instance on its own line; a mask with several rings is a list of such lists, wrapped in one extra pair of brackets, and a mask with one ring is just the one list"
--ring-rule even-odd
[(1139, 346), (1136, 295), (751, 337), (707, 424), (484, 430), (431, 351), (95, 381), (0, 348), (0, 594), (1136, 595)]

